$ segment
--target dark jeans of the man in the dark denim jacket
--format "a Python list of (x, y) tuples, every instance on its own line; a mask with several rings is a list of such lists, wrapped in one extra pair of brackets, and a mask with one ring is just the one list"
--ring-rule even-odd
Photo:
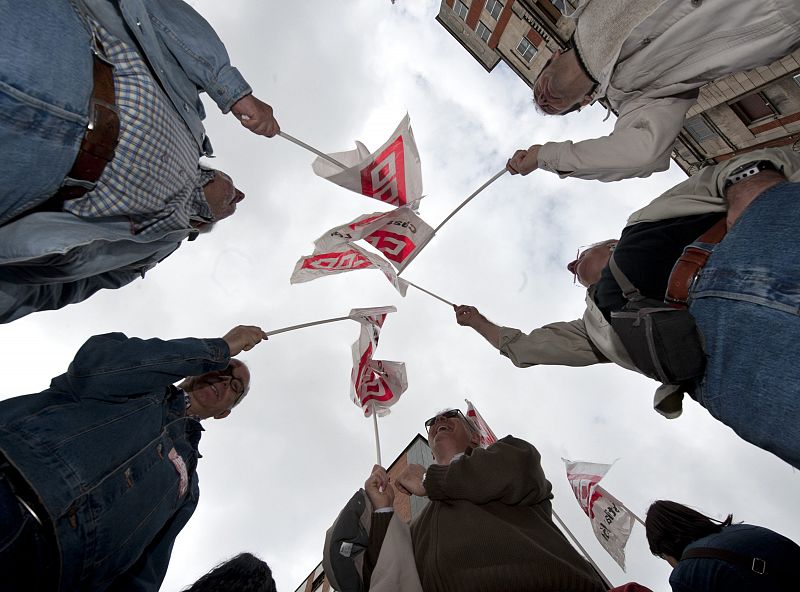
[(0, 466), (0, 588), (4, 592), (47, 590), (55, 567), (44, 529), (14, 495)]

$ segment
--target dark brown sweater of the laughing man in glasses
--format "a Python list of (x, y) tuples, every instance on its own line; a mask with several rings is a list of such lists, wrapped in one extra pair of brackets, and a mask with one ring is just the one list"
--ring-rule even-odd
[[(539, 452), (507, 436), (431, 465), (430, 503), (411, 524), (425, 592), (600, 592), (605, 586), (551, 518)], [(373, 516), (370, 547), (387, 515)], [(369, 563), (369, 559), (367, 560)]]

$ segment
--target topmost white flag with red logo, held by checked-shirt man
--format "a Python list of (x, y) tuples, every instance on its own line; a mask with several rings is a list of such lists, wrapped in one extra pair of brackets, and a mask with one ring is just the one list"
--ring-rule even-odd
[(329, 154), (347, 167), (344, 170), (320, 157), (311, 166), (332, 183), (393, 206), (415, 201), (422, 197), (422, 168), (409, 123), (406, 114), (391, 138), (375, 152), (356, 142), (355, 150)]

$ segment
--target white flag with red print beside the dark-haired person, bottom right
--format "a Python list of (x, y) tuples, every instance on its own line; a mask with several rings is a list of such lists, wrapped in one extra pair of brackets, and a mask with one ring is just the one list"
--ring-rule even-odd
[(631, 536), (634, 517), (617, 498), (598, 485), (611, 465), (561, 460), (567, 466), (567, 480), (589, 516), (594, 535), (625, 571), (625, 545)]

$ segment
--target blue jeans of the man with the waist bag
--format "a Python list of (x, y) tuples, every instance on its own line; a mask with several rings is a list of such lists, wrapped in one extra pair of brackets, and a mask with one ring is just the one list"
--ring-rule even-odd
[(800, 183), (750, 204), (691, 296), (708, 354), (692, 396), (742, 438), (800, 468)]

